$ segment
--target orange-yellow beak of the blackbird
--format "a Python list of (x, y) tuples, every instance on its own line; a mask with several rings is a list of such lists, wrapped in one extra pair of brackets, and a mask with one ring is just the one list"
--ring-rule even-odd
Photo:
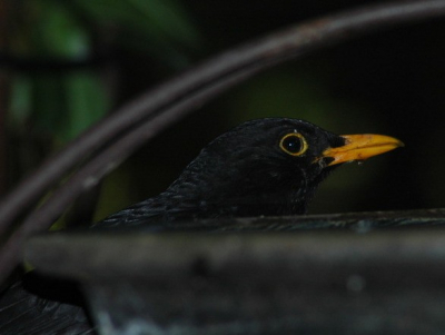
[(328, 148), (323, 152), (323, 157), (334, 158), (329, 166), (353, 160), (365, 160), (404, 146), (400, 140), (384, 135), (362, 134), (342, 135), (342, 137), (345, 139), (344, 146)]

